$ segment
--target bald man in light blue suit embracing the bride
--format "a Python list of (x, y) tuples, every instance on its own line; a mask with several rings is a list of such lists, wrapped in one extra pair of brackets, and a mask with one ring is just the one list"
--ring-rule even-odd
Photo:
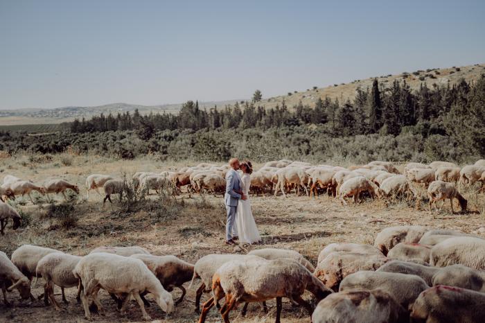
[(236, 210), (239, 200), (246, 200), (247, 196), (241, 191), (241, 177), (239, 176), (239, 160), (231, 158), (229, 160), (230, 169), (226, 174), (226, 193), (224, 202), (226, 203), (227, 222), (226, 222), (226, 245), (236, 245)]

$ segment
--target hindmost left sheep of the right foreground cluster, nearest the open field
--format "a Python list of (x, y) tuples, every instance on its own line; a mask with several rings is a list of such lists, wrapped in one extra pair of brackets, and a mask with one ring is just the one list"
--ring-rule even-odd
[(387, 227), (378, 233), (374, 245), (378, 247), (382, 254), (387, 255), (387, 252), (400, 242), (418, 243), (427, 231), (429, 229), (418, 225)]

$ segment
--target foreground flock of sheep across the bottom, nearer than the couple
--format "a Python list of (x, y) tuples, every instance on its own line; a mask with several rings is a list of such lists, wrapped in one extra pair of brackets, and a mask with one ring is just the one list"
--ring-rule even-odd
[[(316, 267), (299, 252), (252, 250), (248, 254), (208, 254), (195, 264), (176, 256), (155, 256), (142, 247), (98, 247), (85, 256), (35, 245), (22, 245), (8, 259), (0, 252), (0, 286), (18, 290), (22, 299), (37, 302), (30, 292), (44, 279), (46, 306), (60, 311), (55, 286), (78, 288), (78, 302), (92, 320), (91, 306), (103, 313), (98, 292), (105, 290), (125, 313), (135, 299), (144, 320), (151, 295), (170, 313), (186, 295), (184, 283), (200, 279), (195, 311), (204, 322), (217, 306), (224, 322), (238, 304), (276, 299), (280, 322), (283, 297), (308, 310), (312, 322), (483, 322), (485, 317), (485, 239), (463, 232), (421, 226), (387, 227), (374, 245), (331, 243), (321, 250)], [(173, 300), (173, 288), (182, 296)], [(315, 302), (303, 298), (308, 291)], [(202, 305), (204, 293), (211, 293)], [(223, 302), (221, 300), (224, 299)], [(221, 304), (220, 304), (221, 303)], [(315, 306), (316, 304), (316, 306)], [(9, 304), (10, 305), (10, 304)], [(188, 303), (184, 303), (188, 306)]]

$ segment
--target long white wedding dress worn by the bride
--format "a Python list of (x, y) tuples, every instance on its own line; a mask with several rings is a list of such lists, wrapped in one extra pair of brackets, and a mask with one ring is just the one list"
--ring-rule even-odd
[(256, 222), (254, 222), (253, 212), (251, 211), (251, 202), (249, 202), (249, 186), (251, 186), (251, 177), (244, 174), (241, 177), (241, 189), (247, 200), (239, 200), (236, 211), (236, 223), (238, 227), (238, 236), (240, 243), (256, 243), (261, 241)]

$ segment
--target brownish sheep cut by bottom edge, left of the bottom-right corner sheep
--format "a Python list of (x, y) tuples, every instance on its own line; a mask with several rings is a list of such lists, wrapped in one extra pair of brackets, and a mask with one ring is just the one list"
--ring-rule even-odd
[(350, 290), (328, 295), (318, 303), (313, 323), (407, 323), (408, 314), (382, 290)]

